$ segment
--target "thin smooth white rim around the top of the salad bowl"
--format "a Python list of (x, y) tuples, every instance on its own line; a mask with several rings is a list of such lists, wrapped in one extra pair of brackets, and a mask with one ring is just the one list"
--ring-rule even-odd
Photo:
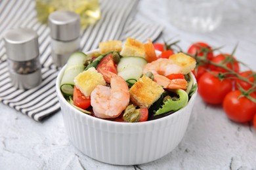
[[(95, 50), (90, 50), (88, 52), (85, 52), (85, 54), (91, 54), (93, 52), (97, 52), (98, 49), (95, 49)], [(159, 54), (160, 51), (157, 51), (156, 50), (156, 53)], [(163, 118), (158, 118), (156, 120), (150, 120), (150, 121), (146, 121), (146, 122), (115, 122), (115, 121), (111, 121), (111, 120), (105, 120), (105, 119), (102, 119), (102, 118), (96, 118), (94, 116), (90, 116), (89, 114), (86, 114), (86, 113), (83, 113), (77, 109), (75, 109), (75, 107), (72, 107), (72, 105), (70, 105), (70, 103), (68, 103), (68, 101), (66, 101), (66, 99), (64, 98), (62, 92), (60, 91), (60, 82), (61, 82), (61, 79), (62, 79), (62, 76), (64, 74), (64, 70), (66, 68), (66, 65), (64, 65), (62, 67), (62, 69), (60, 69), (59, 73), (58, 73), (58, 76), (56, 78), (56, 93), (57, 93), (57, 96), (58, 96), (58, 99), (59, 100), (62, 100), (62, 102), (65, 104), (65, 105), (68, 105), (68, 107), (72, 110), (74, 110), (74, 113), (75, 114), (78, 114), (79, 116), (82, 116), (82, 117), (85, 117), (89, 120), (92, 120), (92, 121), (98, 121), (99, 123), (102, 123), (102, 124), (113, 124), (113, 125), (121, 125), (121, 126), (146, 126), (148, 124), (158, 124), (161, 122), (164, 122), (166, 121), (167, 119), (172, 119), (173, 117), (175, 116), (179, 116), (179, 114), (182, 114), (183, 110), (186, 109), (186, 107), (188, 107), (188, 105), (192, 105), (192, 101), (194, 101), (196, 99), (196, 95), (198, 93), (198, 89), (196, 89), (196, 92), (194, 92), (194, 94), (192, 95), (192, 97), (190, 97), (187, 105), (185, 107), (183, 107), (182, 109), (179, 109), (177, 110), (176, 112), (173, 112), (173, 114), (169, 114), (168, 116), (164, 116)], [(194, 76), (194, 74), (192, 72), (189, 73), (190, 76), (193, 78), (194, 80), (194, 83), (193, 84), (196, 84), (196, 78)]]

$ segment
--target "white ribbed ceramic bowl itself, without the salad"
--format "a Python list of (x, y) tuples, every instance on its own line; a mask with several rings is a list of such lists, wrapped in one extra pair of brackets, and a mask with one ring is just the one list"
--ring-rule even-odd
[(72, 144), (87, 156), (115, 165), (137, 165), (158, 160), (181, 142), (197, 92), (186, 107), (169, 116), (148, 122), (112, 122), (80, 112), (64, 99), (60, 92), (64, 69), (56, 79), (64, 126)]

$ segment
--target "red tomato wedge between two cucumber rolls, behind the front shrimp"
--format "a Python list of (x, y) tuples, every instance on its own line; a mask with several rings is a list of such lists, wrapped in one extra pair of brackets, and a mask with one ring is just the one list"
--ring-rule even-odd
[(96, 70), (98, 71), (98, 73), (101, 73), (101, 69), (117, 74), (116, 64), (112, 59), (112, 53), (108, 54), (100, 60), (100, 63), (98, 64)]

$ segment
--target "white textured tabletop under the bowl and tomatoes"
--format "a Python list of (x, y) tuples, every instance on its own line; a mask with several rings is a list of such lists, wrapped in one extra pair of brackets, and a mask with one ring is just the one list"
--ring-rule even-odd
[[(224, 22), (212, 33), (186, 33), (167, 22), (165, 1), (144, 0), (136, 17), (163, 24), (159, 41), (175, 37), (183, 49), (192, 42), (224, 45), (236, 58), (256, 69), (256, 3), (226, 1)], [(243, 68), (242, 68), (243, 69)], [(116, 166), (81, 154), (68, 140), (61, 111), (42, 123), (0, 104), (0, 169), (256, 169), (256, 131), (251, 124), (236, 124), (221, 107), (203, 103), (198, 95), (188, 129), (173, 152), (143, 165)]]

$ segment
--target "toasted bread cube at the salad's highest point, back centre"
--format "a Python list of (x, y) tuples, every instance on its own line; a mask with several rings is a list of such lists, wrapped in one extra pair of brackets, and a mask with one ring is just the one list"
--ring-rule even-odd
[(125, 44), (120, 52), (121, 56), (137, 56), (137, 57), (146, 57), (146, 52), (144, 44), (132, 38), (127, 38)]

